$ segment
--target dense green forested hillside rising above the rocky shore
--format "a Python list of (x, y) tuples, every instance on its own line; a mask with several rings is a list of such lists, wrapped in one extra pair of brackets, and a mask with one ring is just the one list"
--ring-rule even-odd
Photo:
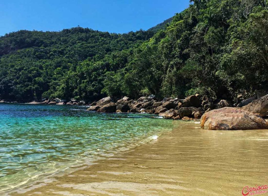
[(154, 34), (80, 27), (0, 38), (0, 99), (93, 100), (268, 90), (266, 0), (193, 0)]

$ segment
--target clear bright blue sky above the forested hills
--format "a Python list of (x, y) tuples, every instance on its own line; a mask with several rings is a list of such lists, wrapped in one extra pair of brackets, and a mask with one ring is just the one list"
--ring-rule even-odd
[(22, 29), (60, 31), (78, 25), (117, 33), (147, 30), (188, 5), (189, 0), (2, 0), (0, 36)]

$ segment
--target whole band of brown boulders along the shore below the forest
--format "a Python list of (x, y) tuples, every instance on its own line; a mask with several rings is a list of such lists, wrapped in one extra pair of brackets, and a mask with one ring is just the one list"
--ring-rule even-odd
[[(211, 130), (247, 130), (268, 129), (263, 117), (268, 116), (268, 95), (262, 97), (243, 99), (237, 96), (237, 102), (227, 100), (213, 100), (205, 96), (191, 95), (185, 99), (164, 98), (157, 99), (155, 95), (140, 97), (133, 100), (129, 97), (114, 100), (104, 97), (101, 100), (86, 104), (85, 101), (70, 101), (54, 99), (33, 101), (27, 104), (52, 104), (52, 105), (87, 105), (87, 111), (96, 112), (128, 112), (156, 114), (165, 119), (195, 120), (201, 119), (201, 127)], [(5, 103), (0, 100), (0, 103)]]

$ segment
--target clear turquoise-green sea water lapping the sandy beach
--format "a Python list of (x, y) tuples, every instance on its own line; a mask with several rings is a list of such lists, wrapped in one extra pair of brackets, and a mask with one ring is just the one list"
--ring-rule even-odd
[(86, 108), (0, 104), (0, 191), (90, 164), (172, 129), (172, 121), (148, 114)]

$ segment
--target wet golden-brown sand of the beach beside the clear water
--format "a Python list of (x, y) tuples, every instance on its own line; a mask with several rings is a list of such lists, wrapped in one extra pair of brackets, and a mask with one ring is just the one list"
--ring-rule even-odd
[(9, 195), (241, 195), (244, 186), (268, 183), (268, 130), (173, 123), (156, 140)]

